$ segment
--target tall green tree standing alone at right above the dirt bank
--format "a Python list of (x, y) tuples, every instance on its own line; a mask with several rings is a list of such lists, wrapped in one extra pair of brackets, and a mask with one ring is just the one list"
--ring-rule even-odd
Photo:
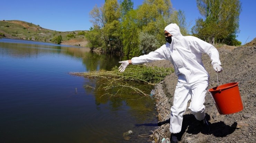
[(196, 20), (192, 34), (214, 45), (219, 40), (234, 37), (239, 32), (239, 0), (196, 0), (203, 18)]

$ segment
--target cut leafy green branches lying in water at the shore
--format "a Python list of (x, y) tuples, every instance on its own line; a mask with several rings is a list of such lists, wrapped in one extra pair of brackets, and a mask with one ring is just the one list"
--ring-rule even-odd
[[(118, 67), (113, 67), (110, 71), (100, 69), (83, 73), (69, 73), (71, 75), (85, 78), (101, 79), (95, 85), (85, 85), (95, 90), (101, 89), (105, 92), (102, 95), (120, 96), (122, 93), (149, 96), (143, 85), (155, 85), (163, 80), (167, 75), (174, 72), (172, 68), (148, 67), (144, 65), (130, 65), (125, 72), (120, 73)], [(123, 97), (122, 97), (123, 98)]]

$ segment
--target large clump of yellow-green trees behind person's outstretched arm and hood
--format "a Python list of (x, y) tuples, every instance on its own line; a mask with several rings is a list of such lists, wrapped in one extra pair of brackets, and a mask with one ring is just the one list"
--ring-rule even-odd
[[(106, 0), (102, 7), (96, 5), (90, 12), (93, 29), (86, 34), (90, 47), (101, 46), (107, 52), (138, 56), (166, 42), (163, 30), (171, 22), (181, 27), (182, 34), (188, 34), (184, 12), (175, 12), (170, 0), (144, 0), (137, 9), (132, 8), (131, 0), (121, 0), (120, 6), (117, 0)], [(95, 41), (94, 32), (103, 44)]]

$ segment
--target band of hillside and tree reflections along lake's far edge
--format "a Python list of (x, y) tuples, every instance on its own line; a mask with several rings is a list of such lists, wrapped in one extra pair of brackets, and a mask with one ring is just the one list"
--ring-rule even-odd
[(24, 41), (22, 42), (23, 43), (9, 44), (0, 41), (0, 47), (5, 49), (5, 54), (7, 53), (9, 56), (13, 57), (37, 57), (38, 54), (56, 53), (79, 59), (82, 58), (82, 62), (88, 71), (99, 69), (110, 70), (112, 67), (117, 66), (118, 62), (122, 60), (119, 56), (101, 54), (97, 51), (91, 51), (90, 48), (25, 44)]

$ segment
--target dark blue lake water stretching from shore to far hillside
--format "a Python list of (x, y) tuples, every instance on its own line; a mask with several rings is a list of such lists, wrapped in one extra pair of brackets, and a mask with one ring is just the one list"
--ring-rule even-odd
[[(101, 97), (104, 91), (84, 87), (95, 79), (68, 74), (110, 70), (121, 60), (89, 48), (0, 39), (0, 142), (146, 142), (136, 137), (156, 126), (154, 99)], [(134, 134), (125, 141), (128, 130)]]

